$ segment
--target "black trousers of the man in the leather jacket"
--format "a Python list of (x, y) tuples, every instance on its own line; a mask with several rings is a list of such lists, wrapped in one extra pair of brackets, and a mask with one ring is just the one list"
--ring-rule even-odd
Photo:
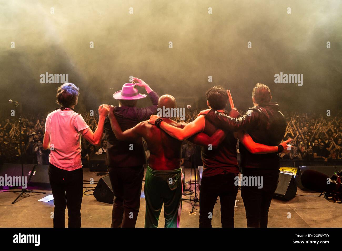
[(246, 209), (247, 227), (267, 227), (268, 208), (278, 186), (279, 169), (242, 168), (242, 175), (263, 177), (263, 187), (241, 186)]

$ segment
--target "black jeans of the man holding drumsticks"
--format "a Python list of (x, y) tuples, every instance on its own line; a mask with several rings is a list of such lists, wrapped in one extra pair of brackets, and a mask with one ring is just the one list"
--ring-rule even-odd
[(234, 185), (235, 173), (203, 177), (200, 188), (199, 227), (212, 227), (213, 209), (220, 196), (221, 225), (234, 227), (234, 206), (238, 186)]

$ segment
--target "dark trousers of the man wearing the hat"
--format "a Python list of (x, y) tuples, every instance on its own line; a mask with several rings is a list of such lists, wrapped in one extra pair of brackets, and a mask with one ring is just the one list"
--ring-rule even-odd
[(144, 167), (108, 167), (108, 173), (114, 193), (110, 227), (135, 227)]

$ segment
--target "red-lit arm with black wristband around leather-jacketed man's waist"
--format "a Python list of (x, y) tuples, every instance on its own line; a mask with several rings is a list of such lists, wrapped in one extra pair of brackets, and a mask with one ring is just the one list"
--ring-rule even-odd
[[(265, 153), (276, 153), (278, 152), (278, 146), (270, 146), (270, 145), (264, 145), (264, 144), (259, 144), (253, 141), (252, 137), (247, 134), (244, 133), (243, 131), (239, 131), (238, 132), (238, 139), (241, 141), (242, 144), (244, 144), (244, 146), (247, 148), (247, 150), (250, 153), (253, 154), (265, 154)], [(284, 150), (282, 152), (286, 153), (289, 152), (291, 150), (291, 145), (287, 145), (288, 142), (290, 142), (291, 140), (288, 139), (282, 143), (280, 143), (282, 145), (282, 147), (284, 148)]]

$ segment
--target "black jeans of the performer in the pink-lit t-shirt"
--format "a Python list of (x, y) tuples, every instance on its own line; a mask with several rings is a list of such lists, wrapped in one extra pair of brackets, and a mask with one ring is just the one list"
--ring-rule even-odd
[(65, 227), (65, 208), (68, 206), (68, 227), (81, 227), (83, 170), (67, 171), (49, 163), (49, 179), (53, 195), (53, 227)]

